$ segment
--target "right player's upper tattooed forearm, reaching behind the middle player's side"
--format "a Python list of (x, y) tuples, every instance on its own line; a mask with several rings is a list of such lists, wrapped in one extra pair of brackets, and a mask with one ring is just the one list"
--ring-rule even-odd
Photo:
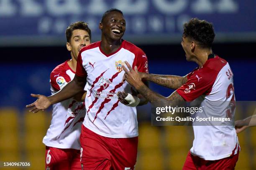
[(187, 82), (187, 75), (184, 77), (177, 75), (155, 75), (145, 72), (139, 72), (143, 80), (148, 80), (164, 87), (178, 89)]

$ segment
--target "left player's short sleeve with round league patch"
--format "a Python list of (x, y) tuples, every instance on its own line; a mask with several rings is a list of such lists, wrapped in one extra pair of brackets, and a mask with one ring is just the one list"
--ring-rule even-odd
[(70, 81), (70, 77), (67, 74), (51, 72), (50, 83), (54, 90), (61, 90)]

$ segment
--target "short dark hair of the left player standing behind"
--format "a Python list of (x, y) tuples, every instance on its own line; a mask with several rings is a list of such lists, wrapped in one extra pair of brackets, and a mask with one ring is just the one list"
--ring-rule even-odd
[(89, 34), (90, 40), (92, 40), (92, 34), (91, 34), (90, 28), (88, 27), (88, 24), (85, 23), (84, 21), (77, 21), (75, 23), (70, 24), (67, 27), (66, 31), (65, 31), (67, 42), (70, 42), (71, 37), (72, 37), (72, 32), (74, 30), (85, 30), (85, 31), (87, 31), (88, 34)]

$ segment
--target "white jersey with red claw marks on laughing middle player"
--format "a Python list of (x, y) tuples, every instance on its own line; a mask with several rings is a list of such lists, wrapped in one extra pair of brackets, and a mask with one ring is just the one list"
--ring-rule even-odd
[(88, 91), (85, 97), (87, 114), (83, 125), (109, 138), (132, 138), (138, 136), (136, 107), (119, 102), (116, 93), (131, 93), (131, 85), (123, 81), (122, 65), (128, 61), (140, 72), (148, 72), (146, 54), (125, 40), (119, 49), (105, 54), (100, 41), (83, 47), (78, 55), (77, 76), (87, 76)]

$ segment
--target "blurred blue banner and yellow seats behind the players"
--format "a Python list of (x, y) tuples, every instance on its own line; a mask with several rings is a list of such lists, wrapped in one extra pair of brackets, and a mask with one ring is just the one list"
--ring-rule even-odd
[[(191, 18), (213, 23), (212, 50), (230, 63), (236, 100), (256, 100), (255, 0), (0, 0), (0, 163), (30, 162), (44, 169), (42, 139), (51, 109), (28, 113), (30, 93), (50, 95), (51, 70), (71, 58), (65, 29), (83, 20), (100, 40), (98, 23), (110, 8), (123, 11), (127, 27), (123, 39), (141, 47), (149, 72), (186, 75), (197, 65), (185, 60), (180, 45), (182, 25)], [(173, 90), (151, 84), (164, 96)], [(236, 119), (252, 115), (255, 105), (237, 107)], [(138, 107), (137, 170), (180, 170), (192, 147), (192, 127), (151, 126), (151, 106)], [(238, 135), (241, 153), (237, 170), (256, 170), (256, 128)], [(5, 169), (0, 166), (0, 169)]]

